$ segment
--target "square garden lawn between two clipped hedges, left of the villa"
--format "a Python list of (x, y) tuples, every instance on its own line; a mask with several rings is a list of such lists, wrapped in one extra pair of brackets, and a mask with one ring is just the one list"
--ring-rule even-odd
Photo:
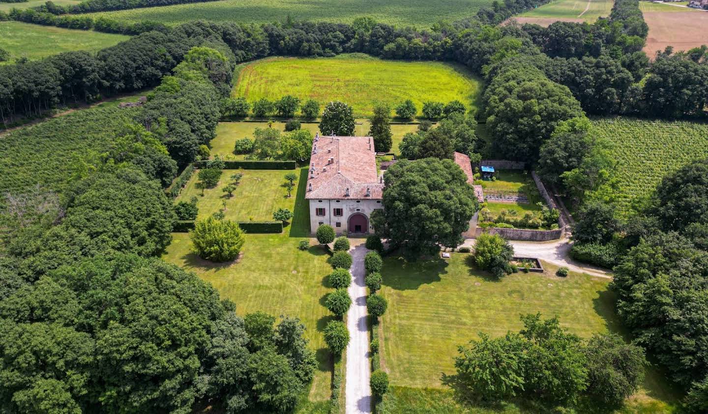
[[(224, 170), (219, 184), (215, 188), (202, 190), (197, 188), (198, 174), (193, 174), (185, 188), (183, 188), (176, 201), (188, 202), (192, 197), (197, 197), (199, 219), (209, 217), (212, 213), (222, 209), (222, 202), (226, 201), (226, 218), (239, 222), (273, 220), (273, 212), (278, 208), (287, 208), (295, 211), (295, 191), (292, 197), (287, 197), (287, 190), (282, 187), (285, 183), (285, 174), (293, 171), (285, 170)], [(299, 173), (302, 180), (307, 181), (307, 167)], [(222, 188), (229, 182), (234, 173), (242, 173), (241, 183), (236, 186), (234, 195), (229, 197), (222, 192)], [(302, 183), (304, 185), (304, 183)]]

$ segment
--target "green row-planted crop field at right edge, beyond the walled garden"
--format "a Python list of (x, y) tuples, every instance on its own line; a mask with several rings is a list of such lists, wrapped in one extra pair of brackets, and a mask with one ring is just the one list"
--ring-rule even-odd
[(608, 118), (593, 121), (592, 133), (613, 144), (620, 212), (634, 197), (649, 195), (661, 179), (686, 163), (708, 157), (708, 125)]

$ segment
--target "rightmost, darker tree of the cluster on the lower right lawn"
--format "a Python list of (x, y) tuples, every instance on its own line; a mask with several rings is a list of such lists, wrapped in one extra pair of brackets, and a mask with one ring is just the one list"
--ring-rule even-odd
[(644, 350), (624, 343), (619, 335), (593, 335), (586, 345), (586, 356), (588, 393), (607, 406), (621, 406), (644, 380)]

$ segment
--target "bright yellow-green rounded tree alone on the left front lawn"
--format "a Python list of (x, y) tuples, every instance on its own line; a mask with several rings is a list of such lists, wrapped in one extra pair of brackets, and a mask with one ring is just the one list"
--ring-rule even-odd
[(195, 253), (212, 262), (229, 262), (239, 257), (246, 236), (239, 224), (209, 217), (195, 222), (190, 238)]

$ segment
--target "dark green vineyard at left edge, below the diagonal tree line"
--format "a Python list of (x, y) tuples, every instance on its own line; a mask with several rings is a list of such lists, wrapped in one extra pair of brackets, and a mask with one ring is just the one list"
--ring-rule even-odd
[(134, 109), (96, 108), (41, 122), (0, 136), (0, 194), (33, 185), (59, 188), (72, 161), (103, 151)]

